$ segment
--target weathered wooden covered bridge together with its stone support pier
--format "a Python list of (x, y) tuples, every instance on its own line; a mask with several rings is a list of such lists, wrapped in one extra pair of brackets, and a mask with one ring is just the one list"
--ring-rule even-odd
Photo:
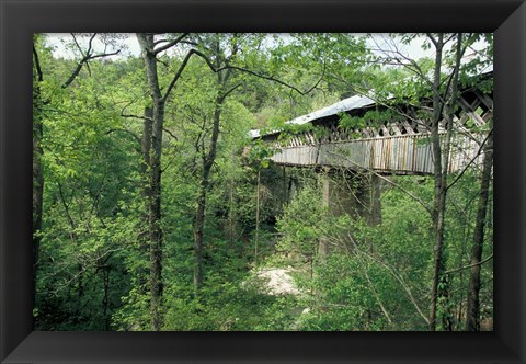
[[(481, 163), (482, 141), (488, 134), (488, 123), (493, 117), (493, 73), (482, 75), (481, 80), (484, 81), (481, 84), (476, 83), (460, 90), (450, 152), (443, 156), (449, 159), (449, 172), (461, 171), (468, 164)], [(482, 84), (491, 87), (481, 87)], [(367, 96), (355, 95), (286, 123), (307, 126), (300, 127), (301, 132), (290, 133), (287, 127), (267, 133), (252, 130), (252, 138), (274, 147), (271, 159), (283, 168), (283, 183), (271, 182), (268, 189), (285, 196), (284, 201), (291, 201), (299, 182), (294, 177), (294, 170), (286, 171), (287, 167), (312, 168), (317, 172), (323, 172), (323, 205), (333, 215), (346, 213), (363, 218), (370, 226), (378, 225), (381, 221), (382, 174), (433, 173), (428, 122), (415, 117), (419, 115), (415, 109), (396, 106), (401, 107), (408, 117), (374, 121), (367, 116), (367, 112), (381, 112), (387, 106), (379, 105)], [(431, 101), (422, 100), (422, 106), (430, 109)], [(362, 127), (341, 127), (342, 116), (345, 115), (361, 120), (355, 125)], [(365, 122), (368, 120), (370, 122)], [(439, 133), (446, 133), (444, 123)], [(321, 239), (319, 257), (323, 259), (330, 250), (329, 241)]]

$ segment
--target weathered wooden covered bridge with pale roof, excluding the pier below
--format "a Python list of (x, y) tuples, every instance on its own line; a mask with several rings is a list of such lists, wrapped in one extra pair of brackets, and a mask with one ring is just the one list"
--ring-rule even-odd
[[(493, 72), (482, 77), (492, 81)], [(477, 84), (462, 89), (459, 106), (454, 120), (451, 151), (447, 156), (450, 172), (464, 169), (472, 160), (479, 161), (482, 140), (477, 137), (477, 129), (493, 117), (493, 89), (484, 91)], [(271, 159), (281, 166), (343, 167), (382, 174), (431, 174), (433, 153), (426, 121), (397, 118), (374, 125), (367, 123), (354, 129), (339, 125), (343, 114), (363, 117), (368, 111), (385, 109), (367, 96), (355, 95), (286, 123), (310, 124), (310, 129), (294, 135), (287, 133), (288, 137), (283, 137), (283, 130), (252, 130), (251, 136), (273, 145), (275, 153)], [(413, 112), (410, 107), (404, 109), (407, 115)], [(320, 134), (320, 129), (325, 133)], [(444, 128), (439, 133), (445, 134)]]

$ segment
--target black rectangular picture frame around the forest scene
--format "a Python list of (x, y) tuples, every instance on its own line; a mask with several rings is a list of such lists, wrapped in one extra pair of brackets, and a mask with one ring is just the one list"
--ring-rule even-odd
[[(526, 4), (521, 0), (0, 0), (1, 363), (526, 363)], [(37, 32), (494, 32), (493, 332), (37, 332), (31, 296)]]

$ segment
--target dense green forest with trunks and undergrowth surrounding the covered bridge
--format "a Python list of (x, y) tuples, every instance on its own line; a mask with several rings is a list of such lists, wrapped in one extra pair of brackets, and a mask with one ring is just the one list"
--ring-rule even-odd
[[(460, 113), (492, 94), (492, 53), (467, 33), (34, 35), (35, 329), (493, 330), (493, 125)], [(321, 135), (287, 122), (353, 95), (376, 106), (339, 129), (420, 123), (432, 172), (281, 166), (254, 136)], [(458, 134), (478, 148), (451, 170)]]

